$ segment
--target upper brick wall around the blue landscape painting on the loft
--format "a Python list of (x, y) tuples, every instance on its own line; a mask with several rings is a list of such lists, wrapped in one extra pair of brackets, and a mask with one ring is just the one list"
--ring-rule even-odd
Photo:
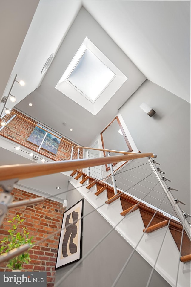
[[(14, 111), (14, 110), (13, 110), (13, 112), (11, 112), (10, 115), (7, 115), (6, 121), (9, 120), (15, 112), (17, 114), (21, 115), (22, 117), (26, 118), (27, 120), (30, 120), (33, 123), (37, 124), (36, 121), (34, 121), (31, 118), (21, 114), (20, 112)], [(30, 134), (34, 128), (35, 128), (35, 126), (33, 124), (28, 123), (27, 121), (16, 116), (7, 126), (4, 127), (4, 129), (2, 129), (2, 131), (0, 132), (0, 135), (4, 136), (6, 138), (9, 138), (9, 139), (11, 139), (11, 140), (15, 141), (16, 143), (19, 143), (23, 146), (26, 146), (33, 151), (37, 151), (38, 146), (27, 141), (27, 138), (30, 136)], [(62, 137), (62, 138), (64, 140), (66, 140), (67, 142), (71, 143), (71, 145), (65, 141), (61, 141), (56, 155), (53, 155), (52, 153), (47, 152), (45, 149), (42, 149), (42, 148), (40, 149), (39, 153), (41, 155), (45, 155), (48, 158), (51, 158), (55, 161), (70, 160), (72, 145), (74, 143), (72, 141), (64, 138), (64, 137)], [(77, 159), (77, 155), (78, 155), (78, 148), (76, 148), (74, 146), (73, 159)], [(82, 158), (82, 157), (83, 157), (83, 150), (80, 149), (80, 158)]]

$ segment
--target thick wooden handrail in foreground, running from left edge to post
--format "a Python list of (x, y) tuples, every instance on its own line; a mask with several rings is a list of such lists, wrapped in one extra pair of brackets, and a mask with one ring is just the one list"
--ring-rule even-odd
[(135, 158), (152, 156), (153, 153), (137, 153), (131, 155), (116, 155), (95, 159), (79, 159), (71, 161), (56, 161), (44, 164), (13, 164), (0, 167), (0, 181), (16, 178), (25, 179), (41, 175), (48, 175), (69, 170), (94, 167), (119, 161), (129, 161)]

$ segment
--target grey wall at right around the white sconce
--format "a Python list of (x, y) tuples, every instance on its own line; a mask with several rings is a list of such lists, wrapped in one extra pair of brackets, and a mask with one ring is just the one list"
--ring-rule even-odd
[[(153, 117), (139, 107), (143, 102), (155, 110)], [(178, 189), (173, 195), (190, 214), (190, 104), (146, 80), (119, 112), (138, 150), (157, 154), (169, 185)]]

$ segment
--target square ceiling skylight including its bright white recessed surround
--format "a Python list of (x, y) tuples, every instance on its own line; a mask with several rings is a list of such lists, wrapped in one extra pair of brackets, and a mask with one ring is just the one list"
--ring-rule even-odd
[(87, 37), (71, 55), (55, 88), (97, 115), (127, 77)]

